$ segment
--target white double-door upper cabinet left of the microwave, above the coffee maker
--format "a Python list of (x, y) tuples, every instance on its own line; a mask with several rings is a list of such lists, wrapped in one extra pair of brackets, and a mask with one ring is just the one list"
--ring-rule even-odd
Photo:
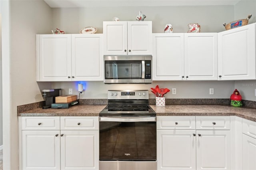
[(102, 34), (45, 34), (37, 39), (37, 81), (103, 81)]

